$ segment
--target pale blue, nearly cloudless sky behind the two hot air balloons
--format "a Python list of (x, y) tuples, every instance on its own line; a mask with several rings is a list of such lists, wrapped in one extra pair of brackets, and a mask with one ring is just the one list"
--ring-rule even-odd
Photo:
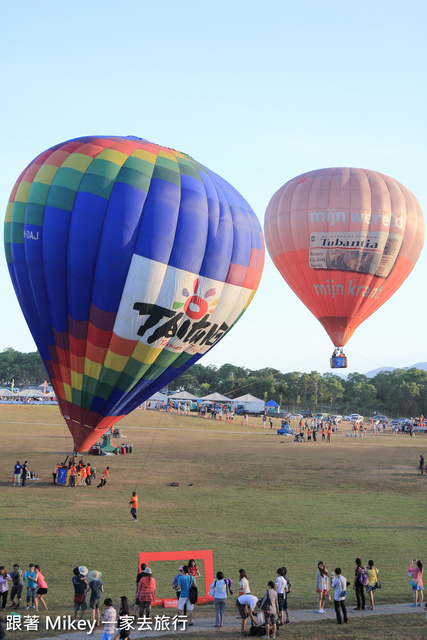
[[(136, 135), (231, 182), (261, 223), (321, 167), (374, 169), (427, 211), (422, 0), (26, 1), (2, 8), (4, 210), (24, 167), (70, 138)], [(349, 372), (427, 361), (427, 250), (359, 327)], [(0, 350), (35, 345), (0, 266)], [(327, 371), (332, 343), (267, 256), (257, 295), (201, 364)]]

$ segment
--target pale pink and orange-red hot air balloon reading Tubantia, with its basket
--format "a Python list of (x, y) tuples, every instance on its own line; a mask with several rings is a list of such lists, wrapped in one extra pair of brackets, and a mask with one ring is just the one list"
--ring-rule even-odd
[[(424, 242), (413, 194), (364, 169), (293, 178), (271, 198), (264, 226), (274, 264), (336, 348), (400, 287)], [(331, 366), (345, 365), (331, 359)]]

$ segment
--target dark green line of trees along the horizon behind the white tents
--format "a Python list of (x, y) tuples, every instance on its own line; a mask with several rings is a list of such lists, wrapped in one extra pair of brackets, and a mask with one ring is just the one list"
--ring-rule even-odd
[[(21, 353), (12, 348), (0, 353), (0, 384), (28, 387), (43, 384), (46, 370), (37, 351)], [(361, 413), (374, 411), (389, 417), (419, 416), (427, 412), (427, 371), (395, 369), (374, 378), (350, 373), (347, 379), (333, 373), (282, 373), (270, 367), (258, 370), (224, 364), (195, 364), (169, 385), (198, 397), (217, 391), (230, 398), (250, 393), (265, 401), (275, 400), (286, 411)]]

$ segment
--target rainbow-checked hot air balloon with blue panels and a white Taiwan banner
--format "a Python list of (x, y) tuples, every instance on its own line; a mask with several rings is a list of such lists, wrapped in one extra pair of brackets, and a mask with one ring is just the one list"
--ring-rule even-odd
[(196, 362), (258, 287), (258, 219), (188, 155), (84, 137), (39, 155), (10, 198), (16, 295), (76, 451)]

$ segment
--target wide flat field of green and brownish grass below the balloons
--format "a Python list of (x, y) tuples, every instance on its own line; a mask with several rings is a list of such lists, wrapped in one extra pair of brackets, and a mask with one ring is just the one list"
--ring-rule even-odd
[[(134, 454), (90, 457), (98, 472), (108, 463), (111, 480), (102, 489), (72, 489), (51, 481), (53, 467), (72, 449), (57, 408), (0, 406), (0, 564), (40, 564), (53, 615), (72, 609), (75, 566), (101, 571), (106, 597), (132, 598), (138, 552), (181, 549), (212, 549), (215, 571), (236, 586), (238, 569), (245, 568), (259, 596), (285, 565), (293, 583), (291, 616), (292, 609), (317, 608), (319, 560), (330, 571), (340, 566), (351, 580), (357, 555), (373, 558), (379, 569), (378, 604), (409, 603), (406, 568), (413, 557), (427, 557), (427, 479), (417, 470), (425, 436), (338, 433), (331, 444), (294, 444), (263, 430), (259, 419), (252, 424), (135, 411), (120, 423)], [(44, 478), (25, 489), (11, 484), (16, 460), (24, 459)], [(168, 487), (172, 481), (180, 486)], [(133, 523), (128, 503), (137, 484), (139, 520)], [(152, 565), (159, 597), (172, 597), (176, 564)], [(234, 600), (228, 605), (233, 614)], [(348, 605), (354, 606), (351, 591)], [(213, 617), (213, 605), (198, 606), (195, 617), (202, 616)], [(422, 637), (419, 616), (417, 623), (402, 618), (370, 619), (369, 637)], [(367, 637), (361, 630), (353, 635), (355, 629), (346, 637)], [(286, 635), (340, 637), (323, 622), (290, 625)]]

